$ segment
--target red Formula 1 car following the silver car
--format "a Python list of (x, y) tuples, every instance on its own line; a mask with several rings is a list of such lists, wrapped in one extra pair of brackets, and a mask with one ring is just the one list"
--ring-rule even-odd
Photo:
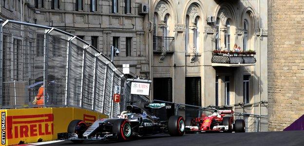
[(224, 131), (245, 132), (245, 121), (237, 119), (234, 121), (233, 110), (214, 110), (209, 116), (204, 114), (200, 118), (186, 118), (186, 132), (194, 131)]

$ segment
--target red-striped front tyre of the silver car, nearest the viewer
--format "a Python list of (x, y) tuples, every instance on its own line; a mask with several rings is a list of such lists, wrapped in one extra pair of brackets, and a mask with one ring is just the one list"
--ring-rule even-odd
[(113, 123), (112, 127), (113, 133), (117, 133), (118, 141), (130, 140), (132, 136), (132, 127), (128, 120), (117, 119)]

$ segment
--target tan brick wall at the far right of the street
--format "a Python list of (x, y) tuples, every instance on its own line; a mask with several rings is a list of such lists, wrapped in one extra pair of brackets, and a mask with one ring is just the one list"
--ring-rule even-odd
[(304, 112), (303, 1), (268, 0), (268, 122), (289, 126)]

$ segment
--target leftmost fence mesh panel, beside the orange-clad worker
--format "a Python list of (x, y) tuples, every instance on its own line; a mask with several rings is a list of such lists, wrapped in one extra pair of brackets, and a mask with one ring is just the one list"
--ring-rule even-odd
[(47, 30), (9, 23), (2, 37), (2, 107), (32, 105), (43, 81), (43, 46)]

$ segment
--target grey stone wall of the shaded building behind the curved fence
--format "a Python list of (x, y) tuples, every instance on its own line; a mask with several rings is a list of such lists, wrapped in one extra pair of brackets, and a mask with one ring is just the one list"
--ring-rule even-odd
[[(5, 4), (4, 4), (5, 1)], [(59, 8), (52, 9), (52, 0), (43, 1), (42, 7), (35, 0), (22, 0), (22, 18), (19, 0), (1, 0), (0, 18), (22, 20), (40, 25), (52, 26), (76, 36), (83, 36), (92, 43), (97, 37), (97, 48), (111, 57), (113, 37), (119, 37), (120, 54), (114, 57), (114, 64), (130, 64), (130, 74), (149, 77), (149, 50), (146, 40), (148, 15), (139, 14), (139, 4), (148, 0), (131, 0), (131, 13), (125, 14), (125, 0), (118, 0), (118, 13), (112, 13), (113, 0), (96, 0), (96, 11), (91, 11), (91, 0), (82, 0), (82, 10), (76, 11), (77, 0), (58, 0)], [(4, 5), (3, 5), (4, 4)], [(132, 37), (131, 55), (126, 56), (126, 37)]]

